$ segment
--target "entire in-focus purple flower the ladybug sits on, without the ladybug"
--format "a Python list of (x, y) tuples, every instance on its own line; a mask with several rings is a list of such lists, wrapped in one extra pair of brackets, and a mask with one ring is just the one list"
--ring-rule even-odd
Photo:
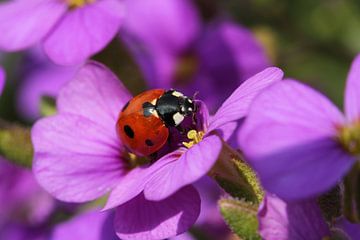
[(210, 170), (221, 150), (220, 137), (212, 133), (219, 130), (227, 139), (255, 95), (281, 77), (280, 70), (269, 68), (250, 78), (209, 124), (201, 104), (202, 140), (194, 139), (190, 149), (170, 152), (152, 165), (129, 169), (115, 124), (131, 96), (108, 69), (90, 62), (61, 91), (58, 115), (33, 127), (33, 171), (47, 191), (64, 201), (89, 201), (111, 191), (105, 208), (117, 207), (115, 230), (122, 239), (180, 234), (200, 211), (199, 195), (190, 184)]

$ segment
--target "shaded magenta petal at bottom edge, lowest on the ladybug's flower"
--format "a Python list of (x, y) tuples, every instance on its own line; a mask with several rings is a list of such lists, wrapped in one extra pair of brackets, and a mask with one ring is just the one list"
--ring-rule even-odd
[(121, 239), (166, 239), (189, 229), (200, 213), (200, 197), (191, 186), (160, 202), (140, 194), (116, 209), (115, 231)]

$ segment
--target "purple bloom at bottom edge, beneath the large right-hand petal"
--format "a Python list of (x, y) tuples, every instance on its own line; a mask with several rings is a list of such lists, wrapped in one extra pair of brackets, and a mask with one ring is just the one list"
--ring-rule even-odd
[(259, 233), (266, 240), (318, 240), (330, 236), (314, 200), (286, 203), (267, 194), (260, 205), (258, 218)]

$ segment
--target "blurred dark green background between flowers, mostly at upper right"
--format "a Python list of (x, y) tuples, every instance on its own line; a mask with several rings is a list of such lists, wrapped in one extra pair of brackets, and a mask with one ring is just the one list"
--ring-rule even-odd
[[(346, 75), (360, 52), (360, 1), (356, 0), (196, 0), (204, 19), (223, 15), (253, 30), (273, 65), (286, 77), (306, 82), (342, 105)], [(110, 56), (110, 57), (109, 57)], [(138, 93), (145, 87), (137, 66), (122, 44), (114, 41), (95, 57), (106, 62)], [(0, 115), (24, 121), (15, 110), (21, 81), (22, 53), (3, 59), (7, 84)]]

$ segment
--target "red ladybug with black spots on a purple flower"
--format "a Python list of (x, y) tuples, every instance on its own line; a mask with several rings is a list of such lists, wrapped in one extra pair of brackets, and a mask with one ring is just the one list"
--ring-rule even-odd
[(175, 90), (154, 89), (131, 99), (119, 115), (117, 134), (132, 153), (150, 156), (168, 140), (169, 128), (195, 113), (194, 101)]

